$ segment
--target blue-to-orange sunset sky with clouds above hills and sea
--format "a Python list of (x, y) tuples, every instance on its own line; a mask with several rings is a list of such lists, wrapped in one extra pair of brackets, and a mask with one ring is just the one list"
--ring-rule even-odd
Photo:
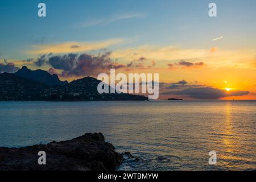
[[(46, 4), (46, 17), (38, 4)], [(216, 3), (217, 17), (208, 15)], [(159, 73), (160, 98), (256, 99), (256, 1), (1, 1), (0, 72)]]

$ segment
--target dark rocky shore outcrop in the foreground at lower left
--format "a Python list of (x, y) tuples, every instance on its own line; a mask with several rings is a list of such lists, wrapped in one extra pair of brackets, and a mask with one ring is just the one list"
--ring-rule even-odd
[[(0, 171), (113, 171), (123, 160), (114, 149), (101, 133), (23, 148), (0, 147)], [(38, 164), (39, 151), (46, 152), (46, 165)]]

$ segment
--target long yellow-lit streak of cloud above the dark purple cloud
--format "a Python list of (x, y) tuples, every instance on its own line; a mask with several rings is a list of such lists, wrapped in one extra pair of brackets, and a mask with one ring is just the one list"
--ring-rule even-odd
[(101, 42), (66, 42), (61, 44), (36, 45), (33, 49), (26, 51), (32, 55), (44, 55), (48, 53), (70, 53), (93, 51), (124, 42), (124, 39), (109, 39)]

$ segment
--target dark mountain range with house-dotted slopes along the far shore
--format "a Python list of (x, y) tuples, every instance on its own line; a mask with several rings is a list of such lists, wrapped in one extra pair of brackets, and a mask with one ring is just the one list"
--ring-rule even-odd
[(56, 74), (22, 67), (15, 73), (0, 74), (0, 101), (147, 100), (147, 97), (134, 94), (99, 94), (100, 82), (93, 77), (61, 81)]

